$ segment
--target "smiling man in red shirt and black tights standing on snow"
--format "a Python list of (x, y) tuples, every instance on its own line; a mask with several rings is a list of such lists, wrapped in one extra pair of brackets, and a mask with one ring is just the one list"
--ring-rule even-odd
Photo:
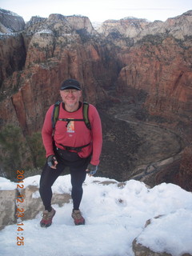
[[(42, 141), (46, 149), (47, 162), (40, 179), (40, 195), (45, 210), (40, 225), (50, 226), (55, 210), (51, 207), (51, 186), (66, 166), (70, 167), (72, 218), (75, 225), (85, 224), (79, 210), (82, 200), (82, 183), (86, 174), (94, 175), (102, 151), (102, 125), (96, 108), (89, 104), (88, 118), (91, 130), (83, 120), (81, 85), (77, 80), (67, 79), (60, 88), (62, 103), (59, 105), (58, 121), (53, 129), (54, 105), (46, 113), (42, 127)], [(70, 121), (71, 119), (71, 121)], [(53, 135), (54, 134), (54, 135)]]

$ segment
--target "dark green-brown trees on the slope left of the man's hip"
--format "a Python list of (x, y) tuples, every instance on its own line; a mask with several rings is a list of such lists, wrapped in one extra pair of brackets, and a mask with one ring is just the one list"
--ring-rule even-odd
[(16, 171), (37, 172), (45, 162), (45, 150), (41, 134), (34, 133), (26, 138), (19, 127), (8, 125), (0, 132), (0, 176), (15, 180)]

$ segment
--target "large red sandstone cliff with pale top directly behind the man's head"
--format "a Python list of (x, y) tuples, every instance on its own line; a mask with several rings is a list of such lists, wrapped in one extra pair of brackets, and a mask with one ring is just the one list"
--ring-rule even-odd
[[(8, 74), (6, 71), (3, 73), (3, 69), (7, 70), (6, 66), (10, 64), (6, 54), (8, 52), (13, 58), (17, 57), (13, 44), (10, 44), (17, 41), (12, 34), (6, 35), (6, 41), (4, 37), (2, 39), (2, 126), (15, 123), (18, 119), (24, 134), (41, 130), (46, 110), (59, 99), (59, 86), (62, 80), (69, 77), (82, 83), (87, 101), (95, 103), (106, 98), (102, 86), (109, 84), (109, 74), (116, 65), (105, 59), (106, 47), (99, 46), (93, 40), (82, 43), (81, 34), (76, 33), (66, 18), (58, 14), (52, 14), (46, 20), (37, 19), (37, 22), (33, 19), (22, 36), (25, 47), (22, 48), (21, 43), (20, 47), (27, 49), (26, 58), (22, 58), (25, 66), (18, 72), (15, 67)], [(105, 64), (111, 66), (110, 72)]]

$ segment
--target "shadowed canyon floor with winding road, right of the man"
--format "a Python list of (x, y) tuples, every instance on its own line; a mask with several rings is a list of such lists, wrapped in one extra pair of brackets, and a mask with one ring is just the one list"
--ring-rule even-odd
[[(157, 185), (157, 175), (181, 158), (182, 138), (160, 122), (150, 122), (142, 102), (122, 102), (102, 106), (103, 150), (101, 173), (125, 181), (130, 178)], [(170, 167), (170, 176), (173, 168)], [(178, 165), (174, 166), (174, 171)], [(170, 182), (169, 174), (160, 178)]]

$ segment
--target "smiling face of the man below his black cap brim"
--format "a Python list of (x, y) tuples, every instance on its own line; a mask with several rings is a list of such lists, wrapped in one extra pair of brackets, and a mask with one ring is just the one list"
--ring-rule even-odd
[(66, 106), (73, 107), (78, 105), (78, 102), (82, 96), (82, 90), (60, 90), (60, 94), (62, 97), (62, 102), (64, 102)]

